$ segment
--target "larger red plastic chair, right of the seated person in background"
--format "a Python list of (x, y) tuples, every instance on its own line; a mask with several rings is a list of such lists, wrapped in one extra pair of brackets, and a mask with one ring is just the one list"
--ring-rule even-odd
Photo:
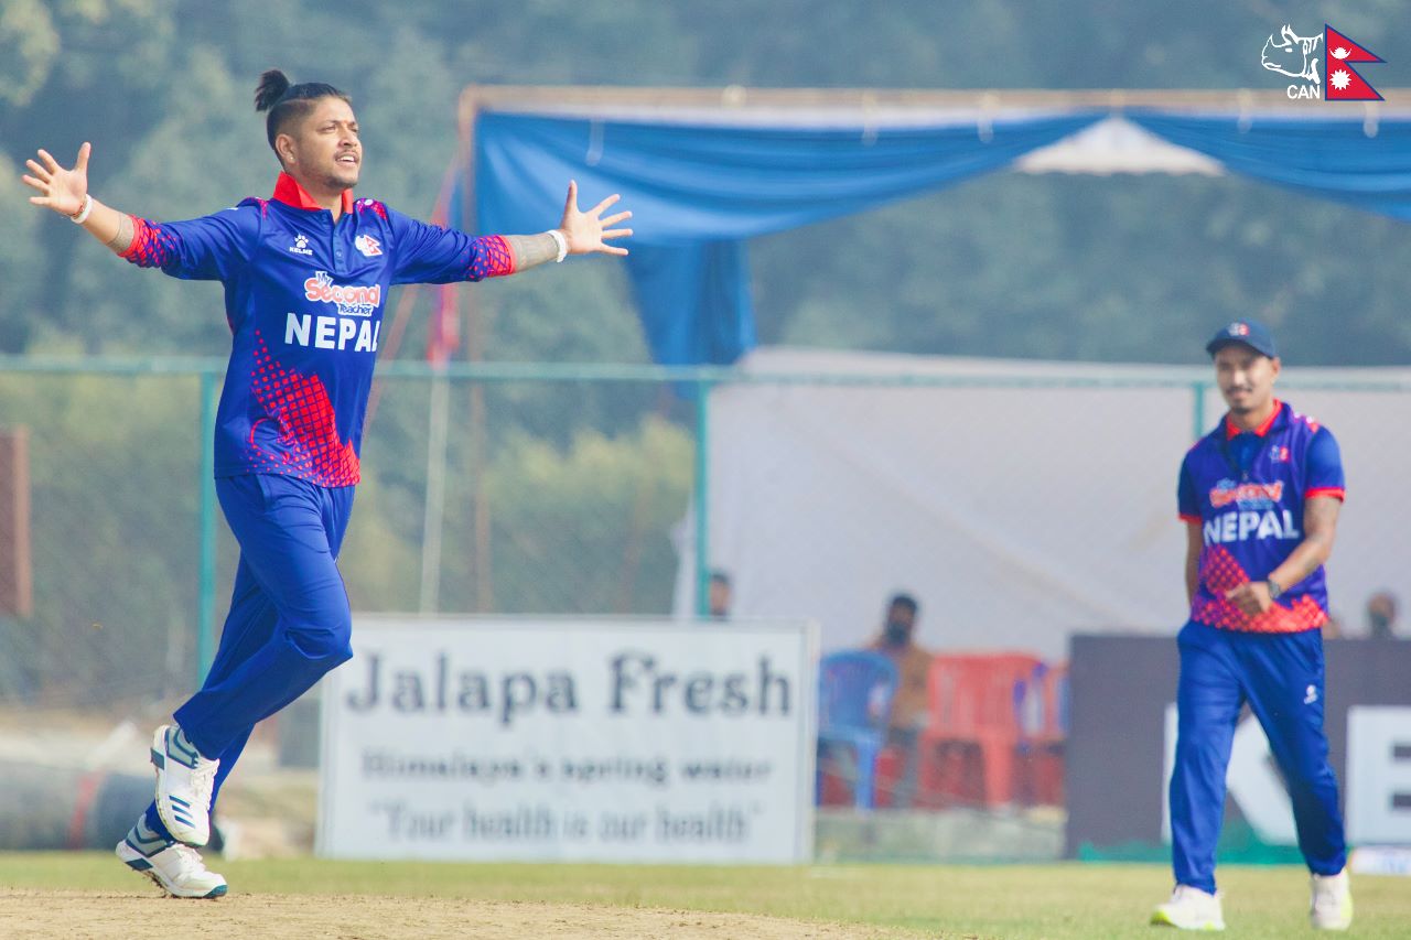
[(938, 655), (927, 676), (921, 733), (927, 803), (1002, 806), (1015, 800), (1020, 709), (1043, 662), (1027, 653)]

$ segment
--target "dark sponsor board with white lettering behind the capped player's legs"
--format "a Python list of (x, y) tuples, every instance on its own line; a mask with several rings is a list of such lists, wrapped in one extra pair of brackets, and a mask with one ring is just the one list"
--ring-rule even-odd
[[(1324, 661), (1324, 728), (1348, 840), (1411, 844), (1411, 642), (1329, 641)], [(1068, 857), (1170, 857), (1178, 668), (1174, 637), (1072, 638)], [(1308, 696), (1315, 692), (1309, 687)], [(1260, 847), (1292, 850), (1288, 790), (1247, 709), (1235, 733), (1226, 786), (1226, 830), (1247, 831)], [(1233, 860), (1249, 847), (1228, 848), (1222, 844), (1221, 855)]]

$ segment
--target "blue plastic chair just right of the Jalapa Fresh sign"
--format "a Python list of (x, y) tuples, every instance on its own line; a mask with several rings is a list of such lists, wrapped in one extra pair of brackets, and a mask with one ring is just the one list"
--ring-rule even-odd
[[(852, 805), (872, 809), (878, 754), (886, 745), (896, 665), (878, 652), (855, 649), (830, 653), (818, 663), (818, 745), (845, 745), (856, 752), (858, 775)], [(823, 766), (817, 796), (823, 797)]]

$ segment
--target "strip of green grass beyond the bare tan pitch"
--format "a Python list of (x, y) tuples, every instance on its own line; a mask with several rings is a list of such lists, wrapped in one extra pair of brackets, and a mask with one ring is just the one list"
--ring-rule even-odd
[[(1168, 892), (1160, 865), (821, 865), (806, 868), (646, 865), (468, 865), (231, 861), (216, 865), (234, 895), (368, 895), (737, 912), (858, 924), (879, 937), (1153, 937), (1146, 926)], [(1292, 867), (1221, 872), (1229, 933), (1314, 936), (1307, 875)], [(0, 891), (154, 893), (110, 855), (0, 854)], [(1411, 882), (1353, 881), (1352, 936), (1411, 937)]]

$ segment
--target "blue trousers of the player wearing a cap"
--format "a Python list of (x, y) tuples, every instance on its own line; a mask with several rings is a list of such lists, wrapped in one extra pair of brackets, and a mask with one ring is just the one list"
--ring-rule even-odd
[(1346, 864), (1338, 779), (1324, 734), (1324, 651), (1316, 629), (1246, 634), (1188, 622), (1178, 637), (1180, 723), (1171, 775), (1175, 882), (1215, 892), (1215, 844), (1225, 816), (1225, 771), (1240, 706), (1268, 737), (1292, 797), (1298, 848), (1318, 875)]

